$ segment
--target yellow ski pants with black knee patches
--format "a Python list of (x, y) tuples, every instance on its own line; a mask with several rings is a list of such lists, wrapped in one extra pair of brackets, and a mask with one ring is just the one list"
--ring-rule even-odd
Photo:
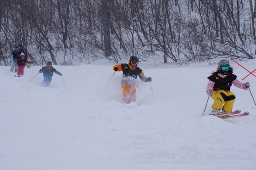
[(213, 106), (211, 108), (217, 108), (231, 112), (236, 97), (231, 91), (217, 90), (213, 92), (211, 98), (214, 100)]

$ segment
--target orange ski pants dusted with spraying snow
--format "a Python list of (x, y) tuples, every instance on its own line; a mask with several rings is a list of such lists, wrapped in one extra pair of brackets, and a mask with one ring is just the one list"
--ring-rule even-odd
[(133, 85), (127, 83), (121, 83), (121, 87), (123, 89), (123, 101), (136, 101), (136, 88)]

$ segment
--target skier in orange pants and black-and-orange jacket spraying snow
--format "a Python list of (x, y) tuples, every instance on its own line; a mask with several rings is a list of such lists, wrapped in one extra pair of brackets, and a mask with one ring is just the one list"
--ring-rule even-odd
[(142, 69), (138, 67), (138, 57), (131, 56), (128, 64), (117, 64), (113, 66), (115, 72), (123, 72), (121, 87), (123, 89), (122, 100), (129, 104), (136, 101), (136, 79), (137, 76), (144, 82), (152, 81), (151, 77), (146, 77)]

